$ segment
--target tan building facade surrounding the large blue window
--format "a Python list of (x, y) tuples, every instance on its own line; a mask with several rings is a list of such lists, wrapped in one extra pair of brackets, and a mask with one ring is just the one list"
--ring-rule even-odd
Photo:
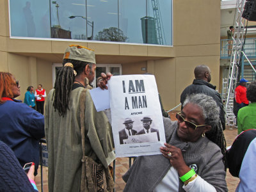
[(70, 44), (94, 49), (97, 64), (120, 64), (122, 74), (154, 74), (164, 109), (179, 104), (180, 93), (194, 79), (196, 65), (208, 65), (211, 83), (219, 87), (220, 1), (173, 0), (173, 46), (10, 38), (6, 0), (0, 0), (0, 15), (0, 71), (11, 72), (19, 80), (21, 100), (29, 85), (42, 84), (47, 93), (51, 90), (52, 65), (62, 62)]

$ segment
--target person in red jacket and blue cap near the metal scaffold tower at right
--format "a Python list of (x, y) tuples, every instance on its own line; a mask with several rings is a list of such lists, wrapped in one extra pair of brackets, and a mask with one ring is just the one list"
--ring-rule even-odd
[(246, 97), (246, 83), (248, 82), (246, 79), (240, 79), (240, 84), (237, 86), (235, 90), (235, 99), (237, 102), (237, 111), (245, 106), (248, 106), (249, 100)]

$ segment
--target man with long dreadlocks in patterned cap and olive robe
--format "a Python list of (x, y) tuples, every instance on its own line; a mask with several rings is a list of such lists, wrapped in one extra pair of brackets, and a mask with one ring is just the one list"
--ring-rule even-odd
[[(50, 192), (111, 191), (108, 166), (115, 159), (111, 125), (90, 95), (95, 53), (70, 45), (45, 106)], [(111, 75), (102, 74), (101, 87)]]

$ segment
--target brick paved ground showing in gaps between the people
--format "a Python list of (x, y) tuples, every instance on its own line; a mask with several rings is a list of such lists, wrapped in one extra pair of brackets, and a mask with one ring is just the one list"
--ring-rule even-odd
[[(171, 113), (172, 120), (175, 120), (175, 112)], [(232, 129), (230, 127), (226, 127), (226, 130), (224, 131), (225, 138), (227, 141), (227, 147), (232, 145), (232, 142), (236, 138), (237, 135), (237, 129)], [(117, 192), (121, 192), (124, 189), (125, 182), (122, 180), (122, 175), (124, 175), (125, 172), (127, 172), (129, 168), (129, 158), (116, 158), (116, 180), (115, 180), (115, 189)], [(43, 168), (43, 178), (44, 178), (44, 192), (48, 192), (47, 184), (47, 168)], [(40, 169), (38, 170), (38, 176), (36, 176), (36, 186), (39, 191), (41, 191), (41, 177), (40, 177)], [(236, 190), (237, 184), (239, 183), (239, 179), (236, 177), (232, 177), (230, 173), (227, 170), (227, 176), (226, 176), (228, 191), (234, 192)]]

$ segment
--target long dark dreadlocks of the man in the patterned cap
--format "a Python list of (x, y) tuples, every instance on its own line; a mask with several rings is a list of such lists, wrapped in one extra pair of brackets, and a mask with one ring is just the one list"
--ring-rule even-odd
[[(64, 67), (65, 63), (72, 63), (74, 68), (68, 66)], [(62, 64), (63, 67), (59, 70), (54, 84), (55, 92), (52, 95), (52, 99), (54, 99), (54, 109), (58, 110), (60, 116), (64, 116), (69, 109), (68, 103), (72, 90), (72, 84), (74, 83), (75, 79), (74, 70), (76, 70), (77, 76), (79, 76), (84, 71), (86, 65), (89, 65), (89, 67), (92, 69), (92, 63), (85, 61), (65, 59), (63, 60)]]

